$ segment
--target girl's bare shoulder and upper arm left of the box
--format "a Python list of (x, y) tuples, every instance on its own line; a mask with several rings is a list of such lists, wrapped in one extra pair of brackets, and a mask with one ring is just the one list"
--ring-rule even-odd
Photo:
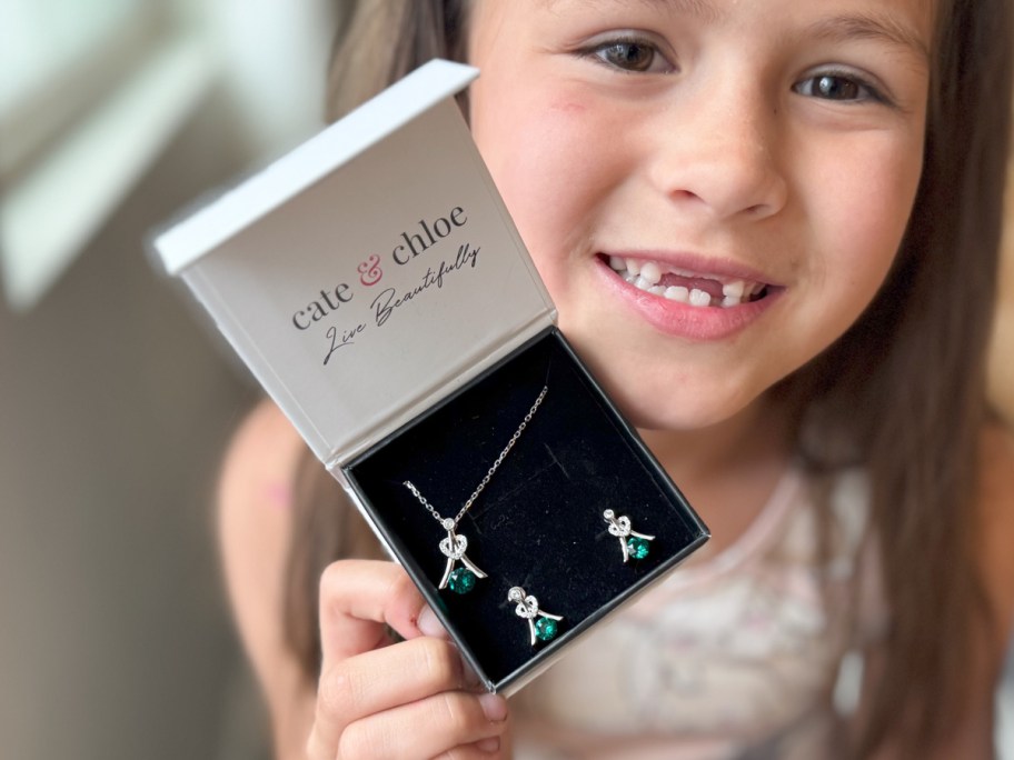
[(312, 699), (282, 629), (291, 484), (304, 443), (272, 403), (258, 404), (226, 452), (218, 484), (222, 566), (239, 636), (268, 702), (279, 757), (301, 748)]

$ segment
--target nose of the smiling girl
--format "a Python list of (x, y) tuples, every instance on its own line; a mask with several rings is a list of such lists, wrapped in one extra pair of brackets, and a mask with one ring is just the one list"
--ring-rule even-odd
[(788, 183), (775, 104), (748, 74), (727, 73), (695, 89), (674, 98), (656, 124), (654, 184), (674, 202), (718, 219), (776, 214)]

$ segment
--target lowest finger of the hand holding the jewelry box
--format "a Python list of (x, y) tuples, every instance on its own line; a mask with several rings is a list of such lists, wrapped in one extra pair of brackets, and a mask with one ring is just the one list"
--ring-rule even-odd
[(477, 742), (503, 736), (506, 720), (507, 702), (498, 694), (445, 691), (350, 723), (341, 733), (338, 758), (475, 756)]

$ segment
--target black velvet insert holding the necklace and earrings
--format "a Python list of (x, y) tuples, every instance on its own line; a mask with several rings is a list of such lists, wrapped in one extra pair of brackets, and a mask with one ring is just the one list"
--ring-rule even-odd
[[(410, 480), (453, 518), (548, 392), (457, 531), (488, 578), (456, 594), (437, 589), (447, 532), (402, 484)], [(567, 644), (617, 603), (707, 539), (686, 500), (619, 417), (556, 330), (349, 464), (346, 476), (399, 560), (490, 687)], [(655, 536), (650, 553), (623, 562), (603, 511)], [(460, 566), (458, 566), (460, 567)], [(531, 647), (507, 591), (520, 586), (564, 617), (559, 634)]]

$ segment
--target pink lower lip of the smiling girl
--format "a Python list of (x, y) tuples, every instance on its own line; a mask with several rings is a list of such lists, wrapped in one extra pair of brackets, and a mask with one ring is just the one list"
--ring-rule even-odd
[(598, 260), (605, 287), (656, 330), (688, 340), (717, 341), (735, 336), (757, 321), (784, 292), (772, 288), (758, 301), (736, 307), (694, 307), (647, 293), (620, 278), (605, 261)]

